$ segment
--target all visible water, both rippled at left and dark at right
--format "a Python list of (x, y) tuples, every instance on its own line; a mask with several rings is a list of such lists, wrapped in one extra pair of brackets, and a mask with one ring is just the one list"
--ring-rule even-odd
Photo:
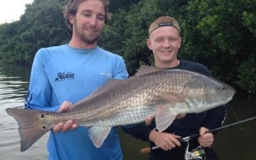
[[(46, 143), (49, 134), (26, 152), (20, 152), (20, 137), (16, 121), (8, 116), (5, 109), (24, 105), (28, 90), (30, 67), (4, 65), (0, 63), (0, 159), (47, 159)], [(231, 124), (256, 116), (256, 97), (248, 98), (237, 92), (227, 105), (225, 124)], [(140, 149), (148, 147), (147, 142), (136, 140), (119, 130), (124, 160), (147, 159)], [(253, 160), (256, 157), (256, 120), (228, 127), (215, 136), (214, 147), (221, 160)]]

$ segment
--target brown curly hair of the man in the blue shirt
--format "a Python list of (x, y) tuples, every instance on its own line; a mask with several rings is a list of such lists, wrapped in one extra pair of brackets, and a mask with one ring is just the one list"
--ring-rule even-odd
[[(83, 1), (87, 1), (87, 0), (68, 0), (68, 3), (66, 4), (63, 10), (65, 23), (68, 29), (70, 30), (72, 30), (72, 24), (69, 21), (69, 15), (76, 15), (77, 8), (79, 4), (81, 4)], [(99, 1), (103, 3), (105, 8), (105, 22), (109, 22), (109, 20), (111, 19), (111, 14), (108, 12), (109, 1), (108, 0), (99, 0)]]

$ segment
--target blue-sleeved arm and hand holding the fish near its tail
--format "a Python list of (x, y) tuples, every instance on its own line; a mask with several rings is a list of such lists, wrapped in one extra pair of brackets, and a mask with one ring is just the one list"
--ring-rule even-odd
[[(72, 106), (70, 102), (63, 102), (60, 106), (51, 106), (52, 86), (45, 70), (42, 51), (38, 51), (33, 61), (31, 77), (29, 82), (29, 92), (26, 97), (25, 108), (42, 111), (67, 111)], [(68, 120), (66, 124), (60, 123), (54, 127), (54, 132), (67, 131), (75, 129), (77, 124)]]

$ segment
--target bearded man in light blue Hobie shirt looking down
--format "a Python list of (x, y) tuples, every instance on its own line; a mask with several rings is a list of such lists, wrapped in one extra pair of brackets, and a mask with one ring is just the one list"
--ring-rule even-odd
[[(26, 108), (66, 111), (108, 79), (127, 79), (122, 57), (97, 46), (109, 20), (108, 0), (70, 0), (64, 17), (72, 29), (68, 44), (40, 49), (31, 70)], [(54, 131), (54, 132), (53, 132)], [(114, 127), (100, 148), (88, 136), (88, 129), (68, 120), (58, 124), (49, 136), (49, 159), (122, 159)]]

